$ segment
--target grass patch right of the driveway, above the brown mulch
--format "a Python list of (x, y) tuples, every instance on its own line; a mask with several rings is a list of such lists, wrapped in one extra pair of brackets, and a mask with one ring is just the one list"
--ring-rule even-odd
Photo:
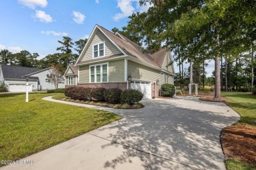
[(226, 104), (241, 116), (235, 125), (256, 126), (256, 95), (240, 92), (222, 92), (221, 95), (231, 101)]

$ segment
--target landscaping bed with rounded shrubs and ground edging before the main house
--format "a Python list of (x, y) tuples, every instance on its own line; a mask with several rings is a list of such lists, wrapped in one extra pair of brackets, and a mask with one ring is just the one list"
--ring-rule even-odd
[(64, 101), (72, 101), (100, 107), (112, 107), (115, 109), (140, 109), (144, 107), (140, 100), (143, 93), (139, 90), (120, 90), (118, 88), (86, 88), (73, 86), (64, 91)]

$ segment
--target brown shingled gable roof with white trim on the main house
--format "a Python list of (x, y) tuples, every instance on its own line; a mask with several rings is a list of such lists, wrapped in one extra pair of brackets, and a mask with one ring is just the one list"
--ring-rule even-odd
[(83, 48), (83, 51), (81, 52), (75, 64), (80, 63), (81, 59), (85, 55), (85, 50), (91, 44), (91, 41), (93, 40), (93, 37), (95, 36), (96, 31), (98, 30), (102, 31), (102, 33), (104, 33), (104, 35), (108, 39), (110, 39), (110, 41), (123, 53), (123, 55), (129, 55), (133, 58), (139, 59), (144, 63), (154, 65), (155, 67), (161, 69), (167, 52), (166, 48), (163, 48), (160, 51), (155, 52), (154, 54), (150, 54), (150, 51), (143, 52), (143, 50), (140, 48), (138, 44), (127, 39), (127, 37), (121, 35), (120, 33), (116, 33), (115, 35), (114, 33), (108, 31), (108, 29), (105, 29), (104, 27), (97, 24), (95, 25), (95, 28), (93, 29), (93, 32), (91, 33), (87, 44)]

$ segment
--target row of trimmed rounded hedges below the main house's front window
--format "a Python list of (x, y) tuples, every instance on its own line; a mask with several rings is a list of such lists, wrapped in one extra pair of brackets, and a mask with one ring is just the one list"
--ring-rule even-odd
[(132, 105), (138, 103), (143, 94), (138, 90), (125, 90), (122, 91), (118, 88), (84, 88), (82, 86), (72, 86), (66, 88), (65, 95), (72, 99), (88, 100), (89, 98), (96, 101), (107, 101), (108, 103), (127, 103)]

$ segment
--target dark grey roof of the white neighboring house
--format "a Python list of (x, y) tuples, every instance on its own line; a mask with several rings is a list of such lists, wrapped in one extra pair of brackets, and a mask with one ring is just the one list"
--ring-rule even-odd
[[(1, 65), (3, 71), (3, 78), (17, 78), (17, 79), (26, 79), (22, 77), (25, 75), (30, 75), (31, 73), (41, 71), (42, 69), (32, 68), (32, 67), (20, 67), (12, 65)], [(38, 79), (35, 76), (29, 76), (31, 79)]]

